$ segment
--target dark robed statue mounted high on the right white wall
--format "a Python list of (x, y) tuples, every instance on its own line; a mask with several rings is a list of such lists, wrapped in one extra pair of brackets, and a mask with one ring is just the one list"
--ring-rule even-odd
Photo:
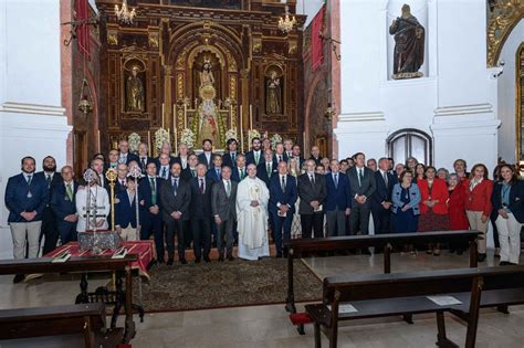
[(402, 6), (401, 17), (389, 27), (389, 34), (395, 35), (392, 78), (423, 76), (419, 68), (423, 64), (425, 29), (408, 4)]

